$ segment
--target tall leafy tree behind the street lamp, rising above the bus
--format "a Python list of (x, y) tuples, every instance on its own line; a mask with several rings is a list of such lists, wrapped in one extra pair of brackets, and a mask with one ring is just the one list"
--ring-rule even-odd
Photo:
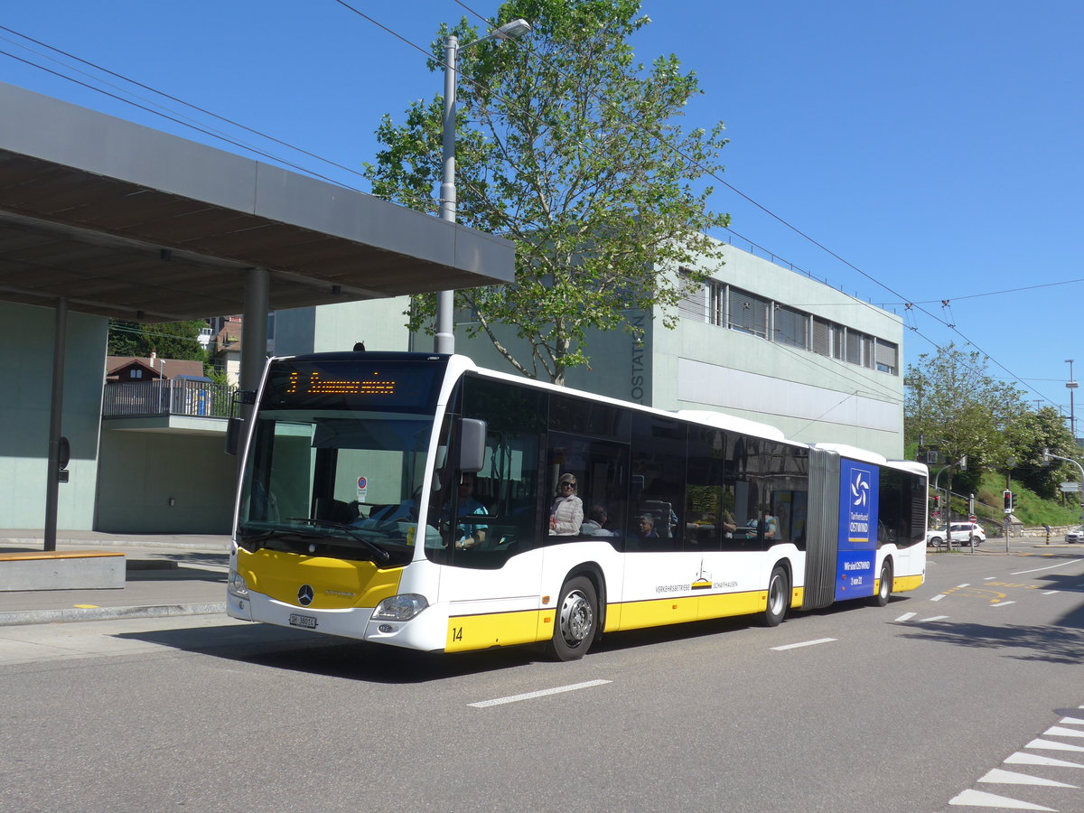
[[(710, 211), (711, 188), (696, 186), (722, 171), (726, 139), (722, 124), (680, 127), (700, 90), (676, 56), (635, 62), (628, 40), (650, 22), (638, 0), (509, 0), (498, 13), (499, 23), (517, 17), (533, 26), (527, 38), (460, 53), (456, 150), (457, 219), (515, 242), (515, 282), (460, 291), (456, 307), (472, 314), (468, 335), (488, 336), (517, 371), (563, 384), (589, 362), (590, 330), (642, 334), (628, 313), (656, 304), (674, 326), (678, 269), (718, 258), (705, 233), (730, 223)], [(443, 69), (449, 33), (480, 36), (466, 20), (442, 27), (430, 69)], [(384, 117), (385, 149), (366, 165), (373, 194), (437, 210), (441, 108), (438, 95), (412, 104), (402, 125)], [(435, 301), (415, 297), (412, 328), (431, 324)], [(502, 340), (509, 328), (529, 354)]]

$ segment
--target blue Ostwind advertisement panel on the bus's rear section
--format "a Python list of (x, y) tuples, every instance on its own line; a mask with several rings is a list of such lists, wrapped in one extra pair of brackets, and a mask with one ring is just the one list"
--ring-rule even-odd
[(877, 466), (846, 457), (840, 460), (837, 602), (874, 594), (879, 486)]

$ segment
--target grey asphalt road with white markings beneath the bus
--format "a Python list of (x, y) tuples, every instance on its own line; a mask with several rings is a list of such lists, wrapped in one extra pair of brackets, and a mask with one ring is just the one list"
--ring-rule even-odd
[(1084, 812), (1084, 551), (940, 555), (888, 607), (573, 663), (217, 616), (0, 628), (0, 695), (2, 811)]

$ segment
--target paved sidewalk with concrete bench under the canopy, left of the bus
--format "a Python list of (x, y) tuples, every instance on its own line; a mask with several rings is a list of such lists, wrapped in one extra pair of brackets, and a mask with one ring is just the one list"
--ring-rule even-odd
[[(41, 530), (0, 530), (0, 552), (43, 549)], [(0, 627), (225, 612), (229, 535), (57, 531), (56, 550), (124, 553), (125, 586), (0, 592)]]

